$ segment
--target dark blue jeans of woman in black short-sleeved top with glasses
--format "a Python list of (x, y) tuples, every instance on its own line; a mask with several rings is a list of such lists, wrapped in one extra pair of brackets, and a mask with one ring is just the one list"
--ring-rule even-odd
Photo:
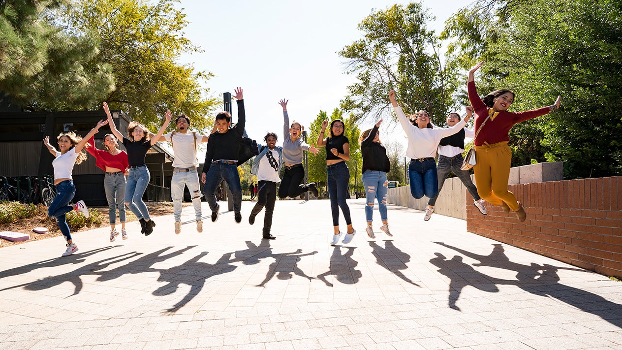
[(330, 198), (330, 211), (333, 214), (333, 226), (339, 225), (339, 208), (343, 212), (346, 224), (352, 224), (350, 207), (346, 203), (348, 197), (348, 184), (350, 183), (350, 169), (345, 161), (326, 166), (328, 175), (328, 197)]

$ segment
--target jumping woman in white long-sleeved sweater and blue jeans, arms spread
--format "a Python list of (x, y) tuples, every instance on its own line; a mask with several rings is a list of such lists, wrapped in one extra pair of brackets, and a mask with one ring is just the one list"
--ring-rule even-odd
[[(419, 199), (424, 195), (428, 198), (436, 197), (439, 191), (439, 178), (436, 171), (436, 149), (439, 142), (446, 136), (451, 136), (462, 130), (470, 116), (458, 121), (451, 128), (432, 128), (430, 116), (427, 111), (418, 111), (415, 114), (414, 125), (406, 118), (404, 111), (397, 105), (395, 92), (389, 92), (389, 100), (396, 111), (399, 123), (408, 136), (406, 156), (411, 158), (408, 166), (408, 177), (411, 181), (412, 197)], [(425, 208), (424, 220), (429, 220), (434, 212), (434, 207)]]

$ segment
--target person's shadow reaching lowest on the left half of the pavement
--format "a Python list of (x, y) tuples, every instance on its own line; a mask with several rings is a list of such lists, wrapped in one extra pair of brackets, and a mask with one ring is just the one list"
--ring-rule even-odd
[(169, 268), (169, 270), (160, 270), (160, 277), (157, 280), (168, 283), (153, 291), (153, 295), (162, 296), (175, 293), (182, 283), (190, 286), (190, 291), (188, 291), (187, 295), (177, 301), (167, 312), (175, 312), (195, 298), (203, 289), (203, 286), (205, 286), (205, 281), (208, 278), (232, 272), (237, 268), (236, 265), (231, 265), (231, 263), (236, 261), (234, 258), (231, 258), (233, 253), (223, 254), (214, 264), (200, 262), (199, 260), (205, 257), (207, 253), (202, 252), (181, 265)]

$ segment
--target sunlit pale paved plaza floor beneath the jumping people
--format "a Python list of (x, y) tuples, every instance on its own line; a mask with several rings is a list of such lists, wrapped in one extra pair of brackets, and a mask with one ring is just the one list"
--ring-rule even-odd
[(277, 201), (271, 241), (243, 202), (242, 224), (203, 204), (202, 234), (184, 207), (180, 235), (168, 215), (149, 237), (75, 234), (71, 257), (62, 237), (0, 248), (0, 349), (622, 347), (622, 283), (404, 207), (371, 240), (349, 204), (336, 247), (328, 201)]

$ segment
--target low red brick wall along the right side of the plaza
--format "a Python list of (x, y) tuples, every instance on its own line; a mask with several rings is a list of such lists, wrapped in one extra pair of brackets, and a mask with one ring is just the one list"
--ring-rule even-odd
[[(622, 177), (509, 185), (527, 212), (466, 206), (466, 229), (531, 252), (622, 277)], [(468, 192), (465, 196), (470, 198)]]

